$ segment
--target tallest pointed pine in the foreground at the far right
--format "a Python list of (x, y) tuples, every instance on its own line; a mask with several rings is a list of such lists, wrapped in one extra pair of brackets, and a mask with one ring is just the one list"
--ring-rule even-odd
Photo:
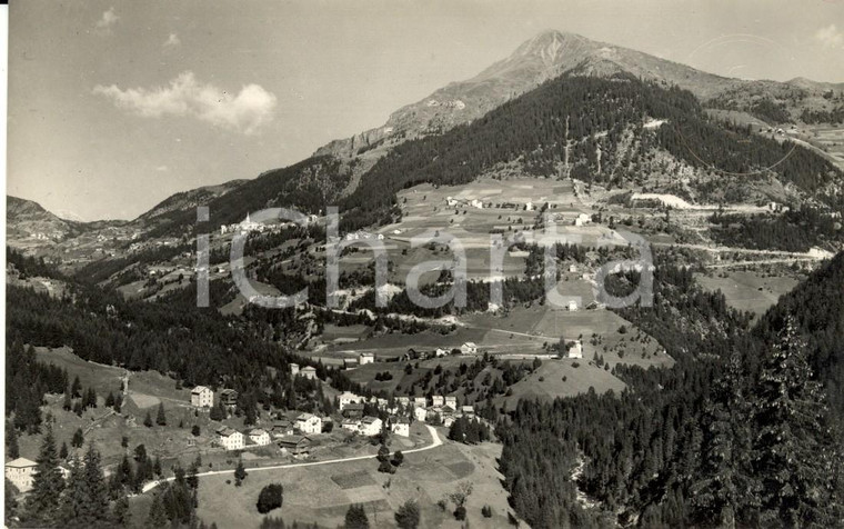
[(757, 380), (753, 467), (767, 526), (833, 527), (844, 512), (843, 500), (831, 495), (830, 469), (844, 465), (841, 447), (805, 349), (787, 320)]

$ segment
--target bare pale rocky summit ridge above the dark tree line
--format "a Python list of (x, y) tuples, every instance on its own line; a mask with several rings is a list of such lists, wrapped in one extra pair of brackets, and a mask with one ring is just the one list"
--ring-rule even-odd
[[(803, 108), (824, 107), (824, 91), (844, 90), (844, 83), (822, 83), (800, 78), (787, 83), (726, 78), (580, 34), (550, 30), (525, 41), (510, 57), (478, 76), (452, 82), (415, 103), (402, 107), (390, 116), (384, 126), (334, 140), (315, 153), (352, 157), (382, 143), (441, 133), (478, 119), (562, 73), (607, 78), (622, 72), (665, 86), (676, 84), (704, 103), (717, 99), (722, 106), (742, 110), (752, 108), (760, 99), (772, 99), (777, 104), (787, 100), (794, 106), (792, 118), (800, 116)], [(750, 92), (743, 93), (744, 90)]]

